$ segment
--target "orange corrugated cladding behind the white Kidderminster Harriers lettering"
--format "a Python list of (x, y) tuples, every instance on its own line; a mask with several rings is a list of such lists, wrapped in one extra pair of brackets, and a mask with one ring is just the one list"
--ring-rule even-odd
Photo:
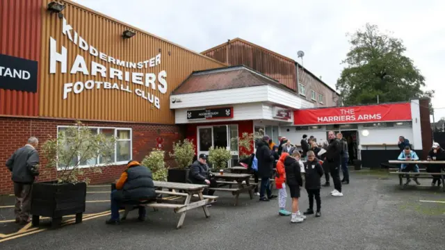
[[(48, 0), (43, 0), (44, 6), (48, 2)], [(57, 15), (51, 15), (42, 9), (40, 116), (174, 124), (175, 115), (170, 110), (170, 92), (175, 90), (193, 71), (225, 67), (223, 63), (219, 63), (212, 58), (188, 51), (176, 44), (118, 22), (115, 19), (111, 19), (111, 17), (106, 17), (77, 3), (71, 1), (60, 2), (66, 5), (63, 15), (67, 20), (67, 24), (72, 26), (73, 40), (74, 31), (76, 31), (81, 38), (86, 40), (88, 46), (92, 46), (97, 51), (126, 62), (142, 62), (154, 58), (161, 53), (161, 64), (154, 67), (143, 67), (143, 69), (133, 69), (108, 63), (99, 59), (99, 57), (92, 56), (88, 51), (80, 49), (78, 45), (68, 39), (67, 35), (63, 35), (63, 19), (59, 19)], [(122, 38), (122, 32), (127, 29), (136, 31), (136, 35), (129, 39)], [(65, 74), (62, 74), (60, 71), (60, 63), (56, 63), (56, 74), (50, 74), (50, 37), (56, 40), (56, 51), (58, 53), (61, 53), (62, 46), (67, 48), (67, 73)], [(81, 72), (70, 74), (77, 55), (85, 59), (89, 75), (83, 75)], [(91, 75), (90, 66), (92, 60), (106, 67), (106, 77), (100, 76), (100, 73), (97, 76)], [(145, 87), (145, 85), (121, 81), (117, 78), (111, 79), (109, 78), (111, 67), (122, 72), (130, 72), (130, 75), (132, 72), (140, 72), (144, 73), (144, 75), (146, 73), (154, 73), (158, 76), (159, 72), (165, 70), (167, 74), (165, 79), (168, 83), (167, 92), (162, 94), (157, 88), (152, 90), (151, 87)], [(97, 89), (95, 87), (91, 90), (83, 90), (79, 94), (70, 92), (67, 94), (67, 99), (63, 99), (65, 83), (74, 84), (79, 81), (85, 83), (88, 80), (118, 83), (119, 86), (121, 84), (124, 86), (128, 85), (132, 92), (104, 88)], [(158, 83), (159, 81), (156, 78), (156, 85)], [(159, 97), (160, 109), (146, 99), (138, 97), (135, 92), (136, 88)]]

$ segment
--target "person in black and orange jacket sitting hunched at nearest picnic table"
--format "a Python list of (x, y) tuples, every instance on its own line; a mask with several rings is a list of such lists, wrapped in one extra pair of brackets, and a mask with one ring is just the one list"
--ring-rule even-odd
[[(111, 218), (106, 224), (119, 224), (119, 208), (122, 202), (150, 199), (156, 199), (152, 172), (136, 160), (130, 160), (127, 169), (116, 183), (116, 189), (111, 191)], [(138, 219), (144, 221), (145, 214), (145, 206), (141, 206)]]

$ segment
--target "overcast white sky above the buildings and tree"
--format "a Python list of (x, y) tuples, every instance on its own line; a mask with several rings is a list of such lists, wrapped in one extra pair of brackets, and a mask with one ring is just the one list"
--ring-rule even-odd
[(445, 117), (445, 1), (75, 1), (197, 52), (233, 38), (294, 60), (305, 51), (304, 66), (334, 88), (350, 47), (346, 33), (377, 24), (404, 41), (426, 88), (436, 90), (436, 120)]

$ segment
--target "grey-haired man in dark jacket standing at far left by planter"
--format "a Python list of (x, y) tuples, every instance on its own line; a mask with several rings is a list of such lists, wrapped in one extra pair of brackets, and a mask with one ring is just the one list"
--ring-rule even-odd
[(17, 149), (6, 161), (6, 167), (13, 172), (15, 195), (15, 223), (27, 224), (31, 221), (29, 212), (31, 210), (31, 188), (35, 176), (38, 176), (37, 165), (39, 154), (35, 147), (39, 141), (35, 137), (28, 139), (28, 144)]

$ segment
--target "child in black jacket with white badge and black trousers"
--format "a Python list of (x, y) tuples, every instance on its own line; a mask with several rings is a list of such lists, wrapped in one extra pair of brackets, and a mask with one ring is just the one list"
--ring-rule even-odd
[(305, 163), (305, 188), (307, 195), (309, 196), (309, 208), (306, 210), (304, 215), (314, 214), (314, 197), (317, 203), (317, 211), (315, 217), (321, 216), (321, 198), (320, 198), (320, 188), (321, 188), (321, 176), (323, 176), (323, 167), (315, 158), (314, 151), (307, 152), (307, 162)]

